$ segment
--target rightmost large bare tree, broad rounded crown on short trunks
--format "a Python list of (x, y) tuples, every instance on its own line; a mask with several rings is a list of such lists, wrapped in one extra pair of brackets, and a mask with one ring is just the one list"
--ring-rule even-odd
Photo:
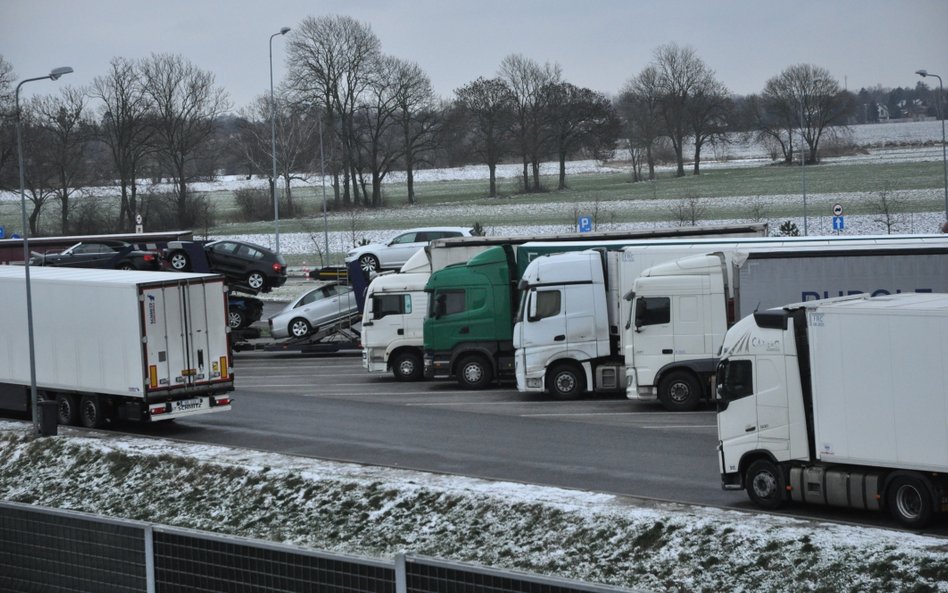
[(785, 134), (787, 162), (793, 159), (793, 132), (800, 130), (809, 155), (808, 163), (819, 162), (819, 145), (830, 126), (845, 125), (855, 104), (842, 91), (829, 70), (811, 64), (797, 64), (771, 78), (762, 93), (766, 120)]

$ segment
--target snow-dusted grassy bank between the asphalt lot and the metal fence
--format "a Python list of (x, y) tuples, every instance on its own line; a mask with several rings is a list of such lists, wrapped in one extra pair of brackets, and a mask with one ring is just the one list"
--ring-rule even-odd
[(948, 540), (0, 421), (0, 498), (645, 591), (948, 591)]

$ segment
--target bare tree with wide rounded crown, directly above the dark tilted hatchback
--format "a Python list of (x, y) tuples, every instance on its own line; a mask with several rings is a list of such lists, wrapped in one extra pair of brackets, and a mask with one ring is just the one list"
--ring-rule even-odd
[(227, 94), (215, 86), (213, 74), (177, 55), (153, 54), (143, 62), (142, 74), (154, 108), (156, 154), (175, 182), (177, 221), (190, 226), (200, 212), (190, 203), (188, 182), (214, 119), (229, 108)]

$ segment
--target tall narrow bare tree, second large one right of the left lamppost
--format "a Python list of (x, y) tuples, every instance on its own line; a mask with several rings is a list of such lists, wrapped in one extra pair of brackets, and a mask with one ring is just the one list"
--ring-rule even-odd
[(135, 228), (135, 215), (139, 214), (140, 166), (154, 133), (149, 118), (151, 101), (145, 92), (141, 69), (125, 58), (115, 58), (109, 73), (97, 77), (89, 92), (102, 103), (99, 137), (109, 147), (121, 191), (120, 226), (131, 231)]

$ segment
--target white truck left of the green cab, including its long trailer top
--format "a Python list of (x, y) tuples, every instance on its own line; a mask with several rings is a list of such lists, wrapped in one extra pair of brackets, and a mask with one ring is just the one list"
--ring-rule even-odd
[[(617, 248), (630, 242), (656, 242), (684, 237), (761, 237), (767, 225), (675, 227), (647, 231), (609, 231), (510, 237), (452, 237), (436, 239), (412, 256), (397, 274), (376, 276), (365, 294), (362, 315), (362, 365), (369, 372), (391, 371), (396, 379), (422, 378), (423, 326), (428, 309), (425, 285), (432, 272), (469, 261), (498, 245), (515, 246), (519, 274), (538, 254), (588, 249), (592, 245)], [(519, 275), (518, 275), (519, 277)], [(512, 322), (511, 322), (512, 323)]]

